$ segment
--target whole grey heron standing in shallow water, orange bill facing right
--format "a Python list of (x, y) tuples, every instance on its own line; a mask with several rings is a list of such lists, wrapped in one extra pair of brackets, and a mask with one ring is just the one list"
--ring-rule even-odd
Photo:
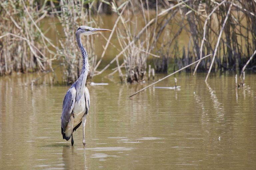
[(80, 26), (76, 30), (76, 42), (81, 50), (83, 56), (83, 68), (79, 78), (72, 84), (67, 91), (62, 105), (61, 114), (61, 133), (63, 139), (69, 140), (71, 137), (71, 144), (74, 145), (73, 132), (82, 124), (83, 127), (83, 145), (85, 146), (85, 123), (86, 115), (90, 107), (89, 90), (85, 86), (88, 71), (88, 55), (82, 45), (81, 37), (83, 35), (92, 35), (99, 32), (109, 32), (111, 30), (92, 28), (88, 26)]

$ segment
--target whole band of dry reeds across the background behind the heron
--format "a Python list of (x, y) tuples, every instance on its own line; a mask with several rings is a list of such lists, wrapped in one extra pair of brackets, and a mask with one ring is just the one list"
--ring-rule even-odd
[[(195, 67), (186, 67), (186, 71), (194, 71), (194, 74), (208, 71), (206, 81), (211, 71), (243, 72), (245, 68), (255, 68), (255, 1), (60, 0), (38, 4), (37, 1), (21, 0), (15, 3), (13, 0), (1, 2), (0, 13), (5, 17), (0, 19), (3, 23), (0, 26), (0, 75), (45, 71), (49, 68), (53, 70), (51, 61), (59, 59), (63, 63), (63, 80), (71, 84), (82, 68), (74, 32), (85, 23), (97, 27), (95, 18), (103, 12), (117, 14), (118, 18), (113, 33), (109, 38), (104, 37), (106, 45), (98, 61), (94, 53), (93, 36), (87, 37), (84, 43), (88, 49), (91, 77), (100, 75), (116, 62), (117, 67), (111, 75), (118, 72), (121, 81), (124, 81), (125, 75), (129, 83), (144, 81), (150, 55), (154, 57), (156, 72), (168, 72), (170, 61), (174, 60), (175, 71), (206, 54), (212, 54), (212, 58), (199, 60), (201, 62)], [(151, 10), (155, 11), (155, 15), (150, 13)], [(40, 20), (48, 14), (57, 16), (62, 25), (63, 34), (60, 36), (63, 38), (59, 39), (56, 46), (40, 29)], [(143, 18), (144, 23), (138, 25), (136, 16)], [(111, 42), (114, 31), (121, 51), (117, 55), (113, 54), (113, 60), (99, 71), (98, 66), (108, 46), (114, 46)], [(188, 35), (186, 46), (180, 45), (182, 32)], [(51, 51), (49, 46), (56, 52)], [(123, 56), (122, 60), (120, 56)], [(151, 65), (149, 70), (152, 69)]]

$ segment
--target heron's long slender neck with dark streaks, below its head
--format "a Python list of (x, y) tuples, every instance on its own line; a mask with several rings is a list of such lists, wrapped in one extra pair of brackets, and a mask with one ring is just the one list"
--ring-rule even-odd
[[(89, 71), (88, 55), (87, 55), (87, 51), (85, 50), (85, 48), (82, 45), (80, 34), (76, 35), (76, 41), (77, 41), (77, 44), (78, 44), (78, 46), (81, 50), (82, 56), (83, 56), (83, 68), (82, 68), (81, 74), (78, 78), (78, 81), (80, 83), (79, 84), (80, 87), (85, 87), (85, 83), (86, 83), (86, 79), (87, 79), (87, 75), (88, 75), (88, 71)], [(81, 92), (84, 92), (84, 88), (81, 88)]]

